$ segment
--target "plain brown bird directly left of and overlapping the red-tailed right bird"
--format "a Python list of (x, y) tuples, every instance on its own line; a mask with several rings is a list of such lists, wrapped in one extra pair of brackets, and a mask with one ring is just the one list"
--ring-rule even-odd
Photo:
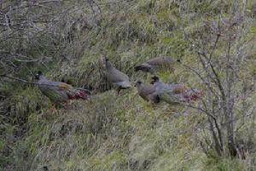
[(155, 94), (155, 88), (152, 84), (146, 85), (141, 81), (136, 83), (137, 93), (146, 101), (152, 101), (154, 103), (159, 103), (160, 99), (157, 94)]

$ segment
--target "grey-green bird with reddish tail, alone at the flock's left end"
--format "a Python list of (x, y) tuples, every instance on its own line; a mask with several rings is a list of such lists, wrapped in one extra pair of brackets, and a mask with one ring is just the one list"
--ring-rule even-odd
[(69, 100), (88, 100), (90, 91), (83, 88), (73, 88), (72, 85), (62, 82), (53, 82), (46, 77), (42, 71), (35, 75), (38, 80), (38, 88), (54, 103), (68, 102)]

